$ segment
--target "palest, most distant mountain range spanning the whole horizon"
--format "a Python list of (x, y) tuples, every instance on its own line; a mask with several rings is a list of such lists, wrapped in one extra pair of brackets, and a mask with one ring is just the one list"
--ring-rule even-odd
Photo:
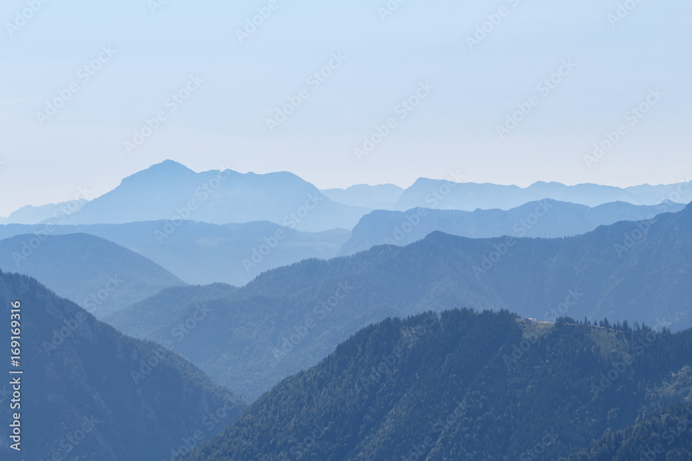
[(122, 180), (98, 198), (42, 207), (22, 207), (3, 218), (4, 223), (58, 225), (122, 224), (167, 220), (174, 229), (183, 220), (211, 224), (251, 223), (266, 220), (300, 231), (352, 229), (373, 209), (406, 211), (432, 209), (511, 209), (549, 198), (597, 207), (626, 202), (658, 205), (692, 201), (691, 181), (675, 185), (635, 187), (558, 182), (536, 182), (529, 187), (419, 178), (407, 189), (395, 185), (356, 185), (320, 191), (293, 173), (238, 173), (230, 169), (196, 173), (166, 160)]

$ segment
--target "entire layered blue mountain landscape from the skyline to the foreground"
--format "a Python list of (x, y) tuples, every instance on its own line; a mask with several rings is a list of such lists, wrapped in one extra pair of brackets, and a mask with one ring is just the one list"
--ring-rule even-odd
[(689, 459), (690, 182), (462, 179), (169, 160), (0, 219), (0, 458)]

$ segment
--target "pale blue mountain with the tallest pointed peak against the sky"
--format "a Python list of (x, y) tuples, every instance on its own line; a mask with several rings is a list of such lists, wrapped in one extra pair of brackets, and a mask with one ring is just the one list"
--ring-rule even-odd
[(57, 224), (120, 224), (192, 219), (212, 224), (268, 220), (316, 232), (351, 229), (365, 208), (335, 203), (292, 173), (205, 171), (166, 160), (122, 180)]

